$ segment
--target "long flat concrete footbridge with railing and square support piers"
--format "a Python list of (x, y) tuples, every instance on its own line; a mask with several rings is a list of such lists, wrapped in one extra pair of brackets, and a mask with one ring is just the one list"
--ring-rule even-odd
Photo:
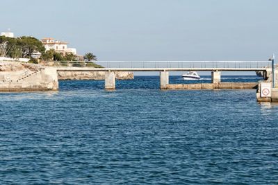
[[(57, 71), (105, 71), (105, 89), (115, 89), (115, 71), (158, 71), (161, 89), (169, 87), (170, 71), (211, 71), (211, 84), (220, 83), (221, 71), (260, 71), (268, 76), (271, 61), (93, 61), (55, 62)], [(61, 66), (62, 65), (62, 66)], [(59, 67), (58, 67), (59, 66)], [(89, 67), (88, 67), (89, 66)], [(91, 66), (91, 67), (90, 67)], [(213, 86), (214, 87), (219, 87)]]

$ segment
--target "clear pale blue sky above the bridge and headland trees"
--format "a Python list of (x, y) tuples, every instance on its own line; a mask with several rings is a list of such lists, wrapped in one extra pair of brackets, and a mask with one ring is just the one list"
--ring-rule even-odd
[(99, 60), (267, 60), (277, 0), (8, 0), (0, 31), (54, 37)]

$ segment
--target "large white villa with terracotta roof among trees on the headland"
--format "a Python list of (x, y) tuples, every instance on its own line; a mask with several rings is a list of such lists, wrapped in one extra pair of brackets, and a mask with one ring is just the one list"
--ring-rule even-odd
[(66, 53), (72, 53), (76, 55), (76, 49), (67, 48), (67, 42), (61, 42), (55, 40), (54, 38), (43, 38), (41, 39), (42, 44), (44, 44), (45, 50), (49, 51), (50, 49), (54, 49), (58, 53), (62, 53), (65, 55)]

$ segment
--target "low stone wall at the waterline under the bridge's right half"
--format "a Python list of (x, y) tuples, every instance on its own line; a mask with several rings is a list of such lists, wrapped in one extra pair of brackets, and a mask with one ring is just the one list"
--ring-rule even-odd
[(220, 82), (199, 84), (167, 84), (167, 90), (199, 90), (199, 89), (256, 89), (257, 82)]

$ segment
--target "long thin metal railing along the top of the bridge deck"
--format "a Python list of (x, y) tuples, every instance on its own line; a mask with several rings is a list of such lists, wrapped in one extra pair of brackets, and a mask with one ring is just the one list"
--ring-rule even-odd
[(54, 61), (56, 67), (104, 67), (104, 68), (264, 68), (270, 61)]

